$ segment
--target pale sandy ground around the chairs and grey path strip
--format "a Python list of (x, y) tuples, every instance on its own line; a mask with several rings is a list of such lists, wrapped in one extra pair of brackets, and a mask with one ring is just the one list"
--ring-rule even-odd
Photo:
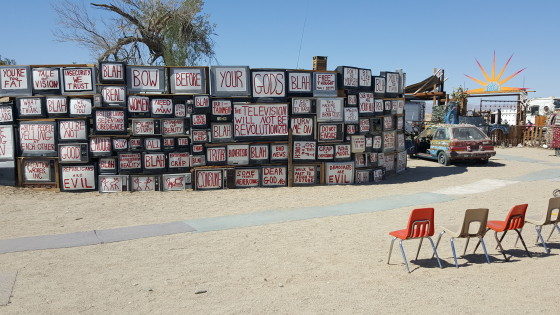
[[(134, 194), (0, 187), (0, 239), (336, 205), (560, 169), (560, 158), (550, 150), (497, 151), (487, 166), (443, 167), (410, 160), (404, 174), (370, 186)], [(515, 161), (508, 156), (549, 163)], [(490, 219), (499, 220), (513, 205), (528, 203), (529, 215), (541, 215), (556, 188), (560, 182), (550, 179), (517, 181), (417, 207), (434, 207), (436, 225), (457, 223), (465, 209), (475, 207), (489, 208)], [(508, 262), (495, 249), (496, 241), (489, 233), (485, 240), (492, 263), (486, 263), (480, 249), (473, 255), (471, 245), (459, 259), (459, 269), (454, 267), (449, 237), (444, 236), (438, 250), (444, 268), (437, 268), (425, 242), (419, 260), (410, 262), (412, 273), (408, 274), (398, 244), (387, 264), (388, 232), (404, 228), (412, 208), (1, 254), (0, 271), (18, 275), (11, 302), (0, 306), (0, 313), (557, 312), (558, 233), (550, 242), (552, 254), (545, 255), (528, 225), (523, 235), (533, 258), (520, 246), (514, 248), (515, 237), (508, 234), (503, 243), (512, 255)], [(550, 227), (545, 228), (544, 234), (548, 236), (549, 231)], [(462, 253), (464, 240), (456, 244)], [(414, 258), (416, 246), (417, 241), (405, 242), (409, 259)]]

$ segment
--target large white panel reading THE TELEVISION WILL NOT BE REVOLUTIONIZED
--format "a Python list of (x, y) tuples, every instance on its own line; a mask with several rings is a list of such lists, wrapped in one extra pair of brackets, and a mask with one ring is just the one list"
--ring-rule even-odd
[(288, 136), (288, 104), (235, 104), (233, 108), (235, 138)]

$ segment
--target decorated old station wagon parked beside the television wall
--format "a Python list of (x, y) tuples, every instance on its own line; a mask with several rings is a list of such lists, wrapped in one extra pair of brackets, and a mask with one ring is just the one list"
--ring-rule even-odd
[(467, 124), (432, 125), (414, 138), (409, 154), (449, 165), (452, 161), (475, 160), (486, 164), (496, 155), (492, 140), (478, 127)]

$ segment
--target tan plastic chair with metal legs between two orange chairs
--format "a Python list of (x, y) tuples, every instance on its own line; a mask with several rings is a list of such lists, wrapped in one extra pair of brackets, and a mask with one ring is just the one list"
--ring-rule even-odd
[[(488, 221), (488, 209), (467, 209), (465, 211), (465, 218), (463, 219), (463, 224), (461, 226), (442, 226), (443, 231), (439, 234), (436, 249), (441, 240), (441, 236), (444, 233), (448, 233), (451, 236), (451, 249), (453, 250), (453, 258), (455, 259), (455, 267), (459, 268), (457, 263), (457, 254), (455, 252), (455, 239), (456, 238), (466, 238), (467, 244), (465, 245), (465, 250), (463, 255), (467, 252), (467, 247), (469, 247), (469, 240), (471, 237), (477, 237), (482, 244), (484, 249), (484, 254), (486, 255), (486, 261), (490, 263), (490, 258), (488, 258), (488, 252), (486, 251), (486, 244), (484, 244), (484, 235), (486, 234), (486, 222)], [(476, 249), (475, 249), (476, 250)]]

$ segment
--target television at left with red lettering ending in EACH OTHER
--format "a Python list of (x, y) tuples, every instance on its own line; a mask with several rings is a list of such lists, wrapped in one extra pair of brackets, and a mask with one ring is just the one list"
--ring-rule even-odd
[(20, 122), (19, 149), (21, 156), (56, 156), (56, 122)]

